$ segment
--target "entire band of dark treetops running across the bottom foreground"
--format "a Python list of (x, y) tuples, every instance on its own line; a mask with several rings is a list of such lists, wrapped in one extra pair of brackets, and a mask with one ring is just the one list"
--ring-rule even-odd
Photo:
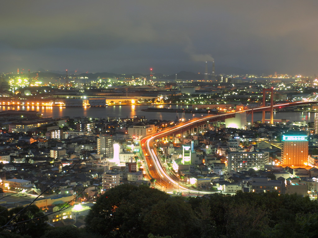
[[(10, 222), (9, 222), (10, 221)], [(9, 223), (8, 223), (9, 222)], [(318, 203), (297, 194), (214, 193), (170, 196), (148, 186), (129, 184), (101, 195), (86, 216), (86, 228), (52, 228), (34, 205), (0, 207), (0, 238), (314, 238)]]

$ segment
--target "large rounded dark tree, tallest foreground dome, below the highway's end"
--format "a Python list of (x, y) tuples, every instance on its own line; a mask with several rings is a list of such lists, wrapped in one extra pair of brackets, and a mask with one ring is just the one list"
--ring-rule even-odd
[[(153, 204), (166, 201), (169, 195), (148, 186), (123, 184), (106, 191), (86, 216), (88, 231), (114, 237), (146, 237), (144, 216)], [(148, 221), (151, 222), (151, 221)]]

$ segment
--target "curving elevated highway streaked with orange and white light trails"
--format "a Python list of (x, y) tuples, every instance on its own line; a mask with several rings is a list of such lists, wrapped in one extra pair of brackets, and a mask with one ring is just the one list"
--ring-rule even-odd
[[(252, 110), (254, 112), (258, 111), (266, 111), (271, 108), (273, 109), (280, 109), (284, 107), (291, 107), (291, 106), (299, 106), (299, 105), (304, 105), (304, 104), (317, 104), (318, 101), (310, 101), (310, 102), (288, 102), (288, 103), (282, 103), (282, 104), (277, 104), (273, 106), (265, 106), (265, 107), (259, 107), (259, 108), (254, 108), (254, 109), (246, 109), (246, 110), (241, 110), (241, 111), (231, 111), (227, 112), (224, 114), (219, 114), (219, 115), (207, 115), (207, 116), (202, 116), (200, 118), (194, 118), (192, 120), (189, 120), (187, 122), (181, 122), (177, 124), (174, 127), (170, 127), (168, 129), (162, 130), (161, 132), (158, 132), (154, 135), (147, 136), (143, 138), (140, 141), (141, 149), (143, 152), (143, 156), (145, 159), (145, 163), (148, 169), (146, 169), (146, 175), (148, 176), (149, 179), (154, 178), (156, 179), (156, 183), (160, 184), (161, 188), (163, 190), (168, 189), (180, 189), (186, 193), (198, 193), (197, 190), (191, 189), (189, 187), (186, 187), (184, 185), (180, 185), (179, 181), (174, 178), (174, 176), (170, 176), (165, 167), (162, 165), (162, 161), (160, 159), (160, 156), (157, 153), (156, 150), (156, 141), (159, 140), (162, 137), (173, 135), (173, 134), (178, 134), (183, 131), (189, 130), (192, 127), (196, 127), (198, 125), (203, 125), (207, 122), (212, 122), (212, 121), (219, 121), (219, 120), (224, 120), (227, 118), (235, 117), (236, 113), (240, 112), (251, 112)], [(211, 193), (211, 192), (200, 192), (201, 194), (204, 193)]]

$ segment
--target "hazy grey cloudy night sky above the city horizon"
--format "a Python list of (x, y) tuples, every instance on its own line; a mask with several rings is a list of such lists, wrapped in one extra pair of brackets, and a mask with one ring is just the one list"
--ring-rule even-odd
[[(318, 74), (318, 1), (10, 0), (0, 72)], [(211, 72), (212, 63), (209, 63)]]

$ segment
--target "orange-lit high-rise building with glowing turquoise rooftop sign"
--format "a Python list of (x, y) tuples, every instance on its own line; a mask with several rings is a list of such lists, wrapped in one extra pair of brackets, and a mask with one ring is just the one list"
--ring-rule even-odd
[(282, 164), (285, 167), (303, 167), (308, 162), (307, 135), (288, 133), (283, 136), (281, 150)]

